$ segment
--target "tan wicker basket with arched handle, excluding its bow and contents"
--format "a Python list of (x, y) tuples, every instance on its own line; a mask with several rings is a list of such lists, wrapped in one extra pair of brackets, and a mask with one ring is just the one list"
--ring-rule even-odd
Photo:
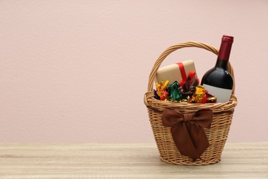
[[(219, 50), (211, 45), (188, 41), (184, 43), (178, 43), (172, 45), (165, 50), (155, 62), (152, 71), (150, 72), (148, 80), (148, 92), (144, 95), (144, 103), (148, 109), (148, 116), (150, 118), (150, 125), (153, 129), (155, 142), (159, 150), (160, 158), (164, 162), (177, 164), (177, 165), (209, 165), (219, 162), (221, 160), (221, 153), (227, 140), (227, 136), (232, 123), (232, 116), (234, 107), (236, 107), (237, 99), (234, 96), (234, 89), (230, 101), (226, 103), (214, 103), (214, 104), (189, 104), (189, 103), (174, 103), (170, 101), (160, 101), (154, 98), (153, 84), (155, 75), (162, 61), (175, 50), (180, 48), (203, 48), (214, 54), (218, 54)], [(234, 78), (234, 71), (232, 65), (228, 64), (228, 70)], [(201, 155), (202, 160), (192, 161), (192, 158), (183, 156), (179, 153), (174, 140), (172, 138), (170, 127), (164, 127), (161, 121), (161, 114), (165, 108), (176, 109), (177, 111), (185, 114), (190, 112), (197, 112), (200, 109), (212, 109), (213, 120), (210, 129), (204, 129), (208, 138), (209, 147), (205, 149)]]

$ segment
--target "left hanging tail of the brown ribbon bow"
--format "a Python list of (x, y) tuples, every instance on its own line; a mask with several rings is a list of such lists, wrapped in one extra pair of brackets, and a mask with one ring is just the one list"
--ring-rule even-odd
[(193, 161), (198, 158), (201, 159), (199, 152), (197, 152), (197, 149), (192, 142), (185, 123), (172, 127), (171, 134), (177, 149), (183, 156), (189, 156)]

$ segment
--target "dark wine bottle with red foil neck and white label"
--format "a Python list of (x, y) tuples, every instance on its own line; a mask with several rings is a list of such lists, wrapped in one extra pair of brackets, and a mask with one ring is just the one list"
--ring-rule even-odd
[(208, 90), (208, 93), (216, 96), (217, 103), (230, 101), (232, 94), (234, 81), (227, 70), (227, 65), (233, 41), (233, 36), (223, 35), (216, 65), (208, 70), (201, 80), (201, 85)]

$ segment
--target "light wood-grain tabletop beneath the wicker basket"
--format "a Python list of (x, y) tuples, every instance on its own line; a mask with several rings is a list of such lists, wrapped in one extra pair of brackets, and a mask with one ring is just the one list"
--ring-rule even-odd
[(0, 178), (268, 178), (268, 143), (226, 143), (205, 166), (162, 162), (155, 144), (0, 144)]

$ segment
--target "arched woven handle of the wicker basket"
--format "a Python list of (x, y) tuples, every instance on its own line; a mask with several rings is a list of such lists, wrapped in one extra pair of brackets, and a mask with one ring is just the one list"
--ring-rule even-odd
[[(149, 80), (148, 80), (148, 92), (153, 91), (153, 83), (155, 81), (155, 76), (157, 74), (157, 70), (159, 69), (159, 66), (161, 63), (166, 59), (166, 56), (168, 56), (171, 52), (174, 52), (175, 50), (178, 50), (180, 48), (203, 48), (205, 50), (208, 50), (210, 52), (213, 52), (214, 54), (218, 55), (219, 50), (214, 48), (212, 45), (208, 45), (206, 43), (201, 43), (201, 42), (195, 42), (195, 41), (186, 41), (183, 43), (177, 43), (176, 45), (170, 46), (170, 48), (166, 49), (155, 61), (155, 65), (153, 65), (153, 69), (150, 72)], [(230, 72), (230, 74), (233, 77), (234, 80), (234, 70), (232, 68), (231, 63), (228, 63), (227, 69)], [(234, 87), (235, 87), (235, 80), (234, 80)], [(232, 94), (234, 94), (234, 87)]]

